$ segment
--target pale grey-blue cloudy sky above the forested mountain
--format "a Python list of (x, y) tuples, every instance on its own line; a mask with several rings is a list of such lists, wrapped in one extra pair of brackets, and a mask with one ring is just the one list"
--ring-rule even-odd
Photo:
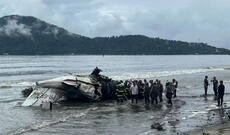
[(230, 49), (229, 0), (0, 0), (0, 17), (34, 16), (89, 36), (141, 34)]

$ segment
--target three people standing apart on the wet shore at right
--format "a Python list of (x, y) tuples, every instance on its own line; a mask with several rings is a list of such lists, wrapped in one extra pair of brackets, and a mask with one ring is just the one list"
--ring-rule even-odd
[[(213, 92), (214, 92), (214, 99), (218, 101), (218, 106), (223, 105), (223, 99), (224, 99), (224, 91), (225, 91), (225, 86), (223, 84), (223, 81), (220, 81), (220, 84), (216, 77), (214, 76), (213, 79), (211, 80), (213, 83)], [(204, 95), (205, 97), (207, 96), (208, 92), (208, 86), (209, 86), (209, 81), (208, 81), (208, 76), (205, 76), (204, 78)]]

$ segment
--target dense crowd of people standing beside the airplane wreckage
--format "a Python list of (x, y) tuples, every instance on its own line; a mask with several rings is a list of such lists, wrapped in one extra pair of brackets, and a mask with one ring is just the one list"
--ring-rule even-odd
[(168, 104), (172, 105), (172, 98), (176, 97), (176, 91), (178, 87), (178, 82), (173, 79), (172, 82), (167, 81), (165, 89), (160, 80), (155, 81), (150, 80), (149, 82), (144, 79), (125, 81), (124, 85), (118, 87), (116, 90), (117, 102), (123, 102), (124, 100), (131, 99), (132, 103), (134, 101), (138, 103), (138, 100), (144, 99), (146, 104), (158, 104), (163, 101), (163, 93), (165, 90), (165, 95)]

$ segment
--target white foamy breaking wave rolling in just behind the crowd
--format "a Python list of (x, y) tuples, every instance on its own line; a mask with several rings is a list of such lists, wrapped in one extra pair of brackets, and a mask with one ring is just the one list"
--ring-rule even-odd
[(161, 72), (148, 72), (148, 73), (124, 73), (119, 76), (112, 76), (115, 80), (127, 80), (127, 79), (148, 79), (154, 77), (167, 77), (173, 75), (186, 75), (186, 74), (197, 74), (206, 73), (213, 71), (223, 71), (225, 68), (203, 68), (203, 69), (185, 69), (185, 70), (175, 70), (175, 71), (161, 71)]

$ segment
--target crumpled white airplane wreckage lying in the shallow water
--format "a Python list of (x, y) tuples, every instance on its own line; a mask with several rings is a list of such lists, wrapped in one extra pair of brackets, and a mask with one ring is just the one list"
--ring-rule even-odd
[(36, 85), (22, 91), (28, 94), (22, 106), (42, 106), (44, 103), (60, 101), (101, 101), (115, 98), (120, 81), (100, 75), (97, 67), (90, 75), (71, 75), (36, 82)]

